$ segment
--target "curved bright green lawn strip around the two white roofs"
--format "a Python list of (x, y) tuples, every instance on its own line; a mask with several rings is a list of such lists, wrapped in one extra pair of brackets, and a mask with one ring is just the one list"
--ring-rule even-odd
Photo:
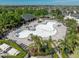
[(6, 43), (8, 45), (10, 45), (11, 47), (17, 49), (20, 51), (20, 54), (18, 54), (17, 56), (4, 56), (5, 58), (23, 58), (24, 56), (26, 56), (27, 52), (25, 50), (23, 50), (17, 43), (9, 41), (9, 40), (0, 40), (0, 44)]

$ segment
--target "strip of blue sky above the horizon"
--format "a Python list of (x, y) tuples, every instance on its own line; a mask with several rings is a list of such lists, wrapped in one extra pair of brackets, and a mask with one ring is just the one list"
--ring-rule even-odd
[(0, 5), (79, 5), (79, 0), (0, 0)]

